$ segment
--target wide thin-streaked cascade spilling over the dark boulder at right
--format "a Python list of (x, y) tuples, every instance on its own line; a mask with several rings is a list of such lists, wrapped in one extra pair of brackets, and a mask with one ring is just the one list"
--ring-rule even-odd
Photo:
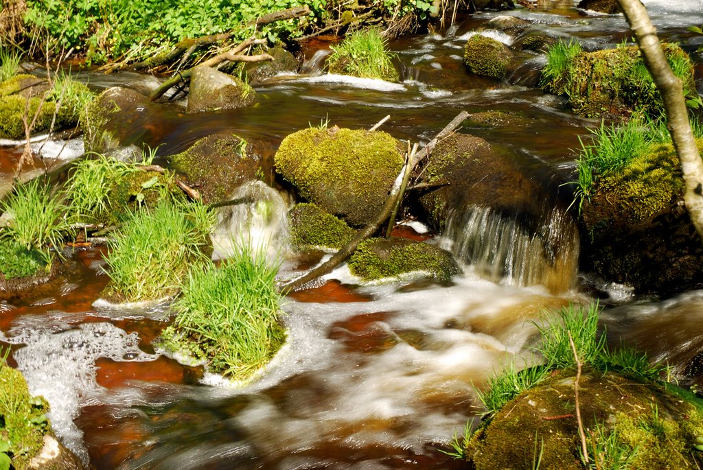
[(483, 278), (543, 285), (550, 292), (565, 292), (576, 282), (579, 233), (561, 209), (550, 209), (534, 232), (486, 206), (450, 215), (446, 227), (446, 248)]

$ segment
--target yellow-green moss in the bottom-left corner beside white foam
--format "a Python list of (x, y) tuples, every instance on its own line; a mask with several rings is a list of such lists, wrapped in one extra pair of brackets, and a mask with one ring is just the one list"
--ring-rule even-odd
[(30, 396), (27, 381), (18, 370), (0, 365), (0, 441), (10, 444), (7, 452), (16, 470), (29, 468), (29, 462), (44, 445), (51, 430), (46, 413), (49, 404)]

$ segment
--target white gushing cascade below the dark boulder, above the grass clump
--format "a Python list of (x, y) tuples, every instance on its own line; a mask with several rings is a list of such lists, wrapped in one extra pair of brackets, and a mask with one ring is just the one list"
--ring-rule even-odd
[(237, 244), (249, 244), (269, 259), (288, 251), (288, 207), (278, 191), (262, 181), (241, 185), (229, 198), (236, 204), (222, 207), (210, 238), (212, 259), (231, 256)]

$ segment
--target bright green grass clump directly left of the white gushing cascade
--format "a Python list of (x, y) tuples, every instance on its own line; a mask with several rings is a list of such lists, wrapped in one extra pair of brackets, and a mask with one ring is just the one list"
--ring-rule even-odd
[(131, 214), (108, 243), (108, 289), (127, 301), (176, 292), (188, 266), (207, 259), (212, 217), (202, 204), (167, 202)]

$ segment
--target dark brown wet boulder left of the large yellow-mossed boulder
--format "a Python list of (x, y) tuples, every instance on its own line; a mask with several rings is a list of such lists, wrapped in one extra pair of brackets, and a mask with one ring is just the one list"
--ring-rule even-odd
[(185, 152), (170, 158), (171, 168), (188, 185), (198, 188), (207, 204), (226, 200), (262, 171), (262, 157), (252, 152), (252, 145), (231, 133), (201, 138)]

